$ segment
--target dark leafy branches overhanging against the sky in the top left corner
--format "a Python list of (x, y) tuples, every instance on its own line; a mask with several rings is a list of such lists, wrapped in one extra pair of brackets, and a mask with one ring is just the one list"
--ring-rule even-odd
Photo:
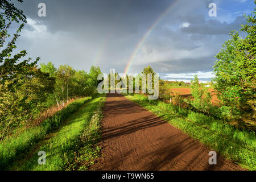
[[(21, 0), (17, 1), (22, 2)], [(15, 42), (20, 36), (19, 33), (22, 31), (24, 23), (27, 22), (26, 16), (23, 15), (22, 10), (16, 9), (14, 4), (9, 3), (9, 1), (6, 0), (1, 1), (0, 8), (3, 10), (0, 13), (0, 48), (3, 48), (0, 53), (0, 84), (5, 84), (6, 81), (8, 81), (9, 88), (11, 89), (11, 86), (18, 82), (17, 73), (30, 71), (31, 68), (33, 68), (39, 61), (39, 57), (33, 63), (29, 63), (31, 61), (30, 58), (28, 60), (24, 60), (18, 63), (20, 58), (27, 55), (27, 52), (23, 50), (20, 51), (20, 53), (14, 55), (13, 57), (11, 56), (11, 53), (16, 48)], [(13, 38), (10, 40), (9, 43), (6, 44), (6, 38), (10, 38), (10, 34), (8, 34), (8, 29), (13, 21), (15, 21), (16, 23), (22, 21), (24, 23), (20, 24)]]

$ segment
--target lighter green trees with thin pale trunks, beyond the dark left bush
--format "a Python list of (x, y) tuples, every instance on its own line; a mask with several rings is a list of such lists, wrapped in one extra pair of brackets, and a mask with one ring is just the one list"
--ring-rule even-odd
[(49, 97), (47, 105), (64, 105), (69, 98), (92, 96), (96, 90), (97, 76), (101, 73), (99, 67), (92, 67), (89, 73), (84, 70), (75, 70), (69, 65), (60, 65), (57, 69), (49, 62), (40, 64), (43, 72), (56, 78), (54, 93)]

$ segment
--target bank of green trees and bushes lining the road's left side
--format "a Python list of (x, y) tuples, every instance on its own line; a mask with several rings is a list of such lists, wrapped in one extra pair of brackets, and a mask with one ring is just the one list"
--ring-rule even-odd
[[(16, 61), (18, 58), (15, 57)], [(0, 67), (6, 69), (5, 65)], [(0, 137), (4, 137), (14, 127), (29, 123), (55, 103), (60, 106), (70, 98), (92, 96), (96, 90), (94, 84), (97, 83), (97, 74), (101, 72), (100, 68), (92, 67), (87, 74), (69, 65), (60, 65), (57, 69), (51, 62), (40, 64), (40, 67), (38, 69), (35, 64), (31, 64), (14, 72), (12, 77), (10, 72), (2, 72), (8, 77), (3, 77), (0, 85)]]

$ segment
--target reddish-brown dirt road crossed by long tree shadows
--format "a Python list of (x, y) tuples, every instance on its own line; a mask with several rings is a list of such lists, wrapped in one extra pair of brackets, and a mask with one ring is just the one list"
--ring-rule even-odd
[(109, 94), (102, 121), (102, 157), (92, 170), (242, 170), (166, 121), (127, 100)]

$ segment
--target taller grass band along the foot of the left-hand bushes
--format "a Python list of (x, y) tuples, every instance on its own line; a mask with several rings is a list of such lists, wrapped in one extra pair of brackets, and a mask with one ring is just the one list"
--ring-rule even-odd
[(44, 120), (40, 126), (31, 127), (18, 136), (10, 136), (0, 143), (0, 170), (9, 169), (14, 160), (23, 158), (24, 153), (31, 150), (37, 142), (53, 129), (56, 129), (71, 113), (81, 107), (90, 97), (73, 101), (64, 109)]

